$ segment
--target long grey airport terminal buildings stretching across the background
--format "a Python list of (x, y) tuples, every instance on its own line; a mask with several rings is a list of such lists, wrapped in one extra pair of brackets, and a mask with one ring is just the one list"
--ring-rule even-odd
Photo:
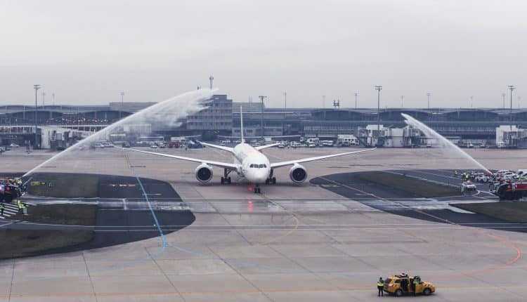
[[(32, 142), (35, 124), (37, 139), (43, 135), (41, 128), (44, 126), (98, 131), (153, 104), (45, 105), (38, 106), (37, 110), (32, 106), (6, 105), (0, 107), (0, 138), (3, 144)], [(298, 135), (336, 139), (339, 134), (359, 136), (369, 125), (377, 123), (382, 124), (382, 129), (388, 133), (389, 129), (405, 127), (401, 113), (409, 114), (441, 135), (456, 140), (490, 144), (495, 142), (500, 126), (512, 124), (517, 129), (527, 129), (525, 109), (384, 108), (378, 114), (377, 108), (272, 108), (261, 103), (235, 103), (227, 95), (214, 95), (207, 109), (181, 120), (177, 126), (152, 124), (151, 129), (153, 133), (167, 137), (240, 136), (240, 107), (244, 111), (246, 136)], [(522, 135), (514, 134), (514, 140), (527, 140)]]

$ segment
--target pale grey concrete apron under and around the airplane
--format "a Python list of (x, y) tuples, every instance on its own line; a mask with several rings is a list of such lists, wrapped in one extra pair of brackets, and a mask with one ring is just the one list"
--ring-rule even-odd
[[(312, 152), (327, 150), (269, 150), (268, 154), (278, 160)], [(171, 230), (182, 224), (162, 223), (166, 244), (157, 236), (100, 249), (0, 261), (0, 301), (371, 301), (377, 299), (379, 276), (402, 271), (436, 284), (436, 294), (427, 300), (523, 301), (527, 235), (510, 230), (525, 225), (495, 225), (483, 218), (456, 221), (457, 216), (474, 214), (428, 209), (452, 199), (422, 201), (374, 192), (383, 204), (391, 205), (383, 208), (372, 196), (344, 187), (351, 184), (334, 176), (386, 169), (394, 158), (398, 164), (412, 164), (408, 170), (445, 166), (430, 161), (416, 164), (415, 157), (429, 154), (424, 152), (381, 150), (346, 161), (306, 164), (313, 182), (300, 186), (290, 184), (287, 169), (278, 170), (278, 185), (264, 187), (262, 195), (249, 192), (243, 183), (219, 185), (218, 173), (214, 183), (200, 185), (192, 164), (131, 155), (134, 166), (144, 166), (136, 173), (169, 183), (181, 198), (172, 205), (191, 211), (195, 221), (175, 232)], [(112, 156), (105, 157), (98, 169), (92, 157), (67, 159), (56, 166), (64, 172), (76, 165), (86, 173), (132, 177), (122, 155), (108, 154)], [(228, 159), (212, 150), (196, 151), (196, 156)], [(100, 157), (93, 155), (96, 158)], [(389, 170), (401, 170), (401, 165)], [(340, 184), (315, 183), (320, 177), (337, 177), (334, 180)], [(150, 187), (146, 193), (157, 192)], [(486, 196), (473, 198), (493, 201)], [(145, 210), (145, 203), (133, 197), (101, 201), (109, 212), (125, 207), (129, 212)], [(151, 204), (157, 211), (170, 206), (170, 201), (157, 197)], [(419, 209), (419, 204), (427, 209)], [(441, 219), (403, 215), (406, 211), (432, 211)], [(126, 225), (115, 221), (108, 228), (129, 232), (119, 229)], [(156, 228), (145, 221), (138, 222), (136, 229)]]

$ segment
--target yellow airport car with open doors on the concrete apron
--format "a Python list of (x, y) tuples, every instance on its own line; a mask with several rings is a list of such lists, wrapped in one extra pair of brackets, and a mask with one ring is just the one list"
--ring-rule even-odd
[(436, 291), (434, 284), (424, 282), (421, 277), (406, 274), (391, 275), (384, 280), (384, 291), (394, 296), (423, 294), (429, 296)]

